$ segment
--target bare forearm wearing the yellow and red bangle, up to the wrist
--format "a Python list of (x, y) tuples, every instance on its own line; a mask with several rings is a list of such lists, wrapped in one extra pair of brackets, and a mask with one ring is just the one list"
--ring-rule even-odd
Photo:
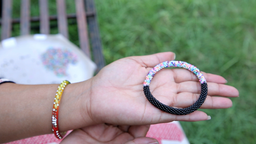
[[(89, 95), (88, 83), (65, 88), (59, 111), (61, 132), (93, 123), (90, 117), (83, 119), (80, 111), (81, 102), (86, 103), (86, 94)], [(51, 114), (58, 85), (1, 84), (0, 143), (52, 133)]]

